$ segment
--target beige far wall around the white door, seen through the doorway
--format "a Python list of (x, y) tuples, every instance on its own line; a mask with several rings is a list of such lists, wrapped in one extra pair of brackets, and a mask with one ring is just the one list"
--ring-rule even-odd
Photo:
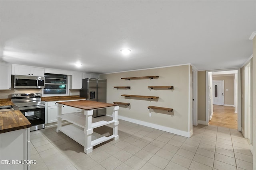
[(213, 76), (212, 80), (224, 80), (224, 105), (234, 105), (234, 76)]

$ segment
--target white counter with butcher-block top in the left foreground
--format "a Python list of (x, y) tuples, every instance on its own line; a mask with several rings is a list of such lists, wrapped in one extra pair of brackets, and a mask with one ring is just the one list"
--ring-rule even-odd
[[(0, 106), (13, 105), (10, 101), (0, 102)], [(0, 110), (0, 169), (30, 169), (30, 127), (19, 110)]]

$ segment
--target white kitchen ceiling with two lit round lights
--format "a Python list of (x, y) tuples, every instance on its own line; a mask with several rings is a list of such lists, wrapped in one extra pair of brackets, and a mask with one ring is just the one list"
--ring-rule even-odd
[(252, 55), (256, 1), (0, 0), (0, 24), (7, 63), (95, 73), (236, 68)]

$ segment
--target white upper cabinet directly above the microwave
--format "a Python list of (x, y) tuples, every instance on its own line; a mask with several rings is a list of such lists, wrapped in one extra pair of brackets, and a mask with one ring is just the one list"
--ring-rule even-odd
[(12, 74), (44, 77), (44, 68), (12, 64)]

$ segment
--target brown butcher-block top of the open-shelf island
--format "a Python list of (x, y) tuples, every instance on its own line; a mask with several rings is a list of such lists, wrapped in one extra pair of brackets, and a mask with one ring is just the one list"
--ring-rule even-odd
[(118, 106), (118, 104), (94, 102), (94, 101), (90, 101), (90, 100), (78, 100), (78, 101), (57, 102), (57, 103), (63, 104), (66, 106), (76, 107), (79, 109), (85, 109), (85, 110), (93, 110), (93, 109), (100, 109), (100, 108), (104, 108), (104, 107)]

